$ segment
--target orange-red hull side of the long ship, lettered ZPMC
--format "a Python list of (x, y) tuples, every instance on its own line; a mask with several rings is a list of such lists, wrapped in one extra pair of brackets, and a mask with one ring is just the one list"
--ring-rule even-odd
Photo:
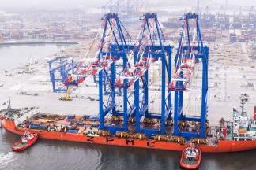
[[(26, 128), (16, 127), (13, 120), (4, 119), (2, 121), (2, 127), (7, 131), (10, 131), (17, 135), (23, 135)], [(41, 139), (53, 139), (58, 141), (68, 142), (88, 142), (94, 144), (110, 145), (110, 146), (127, 146), (137, 148), (147, 148), (156, 150), (175, 150), (183, 151), (186, 145), (182, 145), (175, 142), (161, 142), (152, 139), (122, 139), (117, 137), (88, 137), (83, 134), (72, 134), (58, 131), (41, 131), (30, 129), (29, 131), (35, 132)], [(220, 140), (217, 145), (204, 145), (198, 146), (202, 153), (225, 153), (225, 152), (237, 152), (245, 150), (256, 149), (256, 140), (251, 141), (232, 141), (232, 140)]]

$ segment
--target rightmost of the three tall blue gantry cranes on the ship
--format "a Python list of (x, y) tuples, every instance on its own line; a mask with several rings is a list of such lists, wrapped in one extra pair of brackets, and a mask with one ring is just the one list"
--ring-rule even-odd
[[(175, 91), (174, 105), (174, 135), (185, 138), (205, 138), (208, 91), (208, 57), (209, 47), (204, 46), (198, 22), (198, 14), (186, 13), (183, 18), (183, 31), (175, 55), (175, 73), (172, 76), (169, 90)], [(201, 63), (201, 113), (199, 116), (187, 116), (185, 113), (183, 94), (192, 91), (193, 81), (198, 81), (196, 68)], [(197, 111), (200, 112), (200, 111)], [(182, 124), (192, 125), (197, 122), (198, 131), (183, 128)]]

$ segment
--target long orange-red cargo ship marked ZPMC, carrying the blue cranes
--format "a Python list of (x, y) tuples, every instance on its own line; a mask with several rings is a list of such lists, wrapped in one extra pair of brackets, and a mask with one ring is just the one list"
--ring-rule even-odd
[[(10, 106), (9, 106), (10, 108)], [(28, 109), (28, 111), (32, 110)], [(13, 112), (7, 109), (2, 120), (2, 127), (17, 135), (23, 135), (25, 131), (36, 133), (36, 138), (53, 139), (69, 142), (88, 142), (110, 146), (127, 146), (155, 150), (183, 151), (190, 143), (197, 145), (202, 153), (224, 153), (256, 149), (256, 106), (254, 118), (250, 120), (242, 108), (242, 112), (233, 109), (233, 121), (220, 120), (219, 127), (207, 127), (205, 139), (190, 139), (174, 135), (155, 135), (147, 137), (145, 134), (117, 131), (115, 134), (102, 131), (98, 128), (99, 121), (95, 116), (59, 116), (54, 114), (36, 113), (28, 118), (28, 111), (21, 120), (13, 119), (13, 113), (19, 113), (22, 109)], [(21, 114), (21, 113), (19, 113)], [(118, 117), (112, 117), (112, 121), (119, 121)], [(17, 123), (17, 125), (15, 124)], [(20, 123), (18, 123), (20, 122)], [(131, 121), (130, 127), (133, 121)], [(170, 125), (171, 127), (171, 125)]]

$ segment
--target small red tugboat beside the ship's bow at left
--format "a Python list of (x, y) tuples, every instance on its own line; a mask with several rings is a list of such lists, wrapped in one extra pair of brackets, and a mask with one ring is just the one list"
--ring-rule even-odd
[(12, 146), (13, 151), (23, 151), (26, 150), (29, 146), (32, 146), (38, 139), (37, 133), (31, 133), (29, 131), (25, 131), (24, 135), (22, 135), (21, 139), (14, 143)]

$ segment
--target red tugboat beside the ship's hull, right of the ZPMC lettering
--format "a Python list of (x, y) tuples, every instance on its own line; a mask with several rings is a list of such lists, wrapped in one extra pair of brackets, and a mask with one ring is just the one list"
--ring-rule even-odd
[(184, 169), (198, 169), (201, 163), (201, 150), (194, 145), (186, 147), (179, 163)]

